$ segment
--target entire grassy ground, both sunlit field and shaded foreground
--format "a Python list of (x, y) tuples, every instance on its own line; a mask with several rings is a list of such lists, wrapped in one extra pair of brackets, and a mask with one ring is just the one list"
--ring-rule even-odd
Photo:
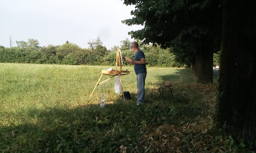
[[(219, 136), (214, 128), (216, 78), (213, 84), (200, 85), (190, 69), (148, 67), (144, 105), (136, 105), (134, 72), (121, 77), (132, 100), (119, 99), (112, 78), (97, 86), (88, 101), (100, 71), (107, 68), (0, 63), (0, 152), (234, 149), (232, 138)], [(132, 66), (123, 69), (134, 71)], [(174, 99), (160, 99), (158, 88), (165, 81), (171, 81)], [(101, 93), (104, 108), (99, 107)]]

